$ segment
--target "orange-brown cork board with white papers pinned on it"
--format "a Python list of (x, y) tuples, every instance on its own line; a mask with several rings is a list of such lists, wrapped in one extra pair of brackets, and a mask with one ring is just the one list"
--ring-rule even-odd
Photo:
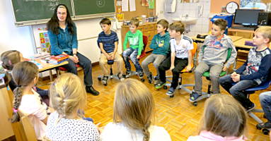
[[(122, 11), (122, 13), (124, 13), (125, 20), (130, 20), (133, 17), (142, 16), (142, 15), (146, 15), (147, 17), (155, 16), (155, 14), (156, 14), (155, 9), (156, 8), (154, 7), (154, 9), (149, 9), (148, 6), (142, 6), (141, 1), (142, 0), (135, 0), (136, 11)], [(116, 0), (115, 0), (115, 5), (116, 5)], [(154, 4), (154, 6), (155, 6), (155, 4)], [(116, 13), (118, 12), (118, 9), (121, 7), (122, 6), (116, 5)]]

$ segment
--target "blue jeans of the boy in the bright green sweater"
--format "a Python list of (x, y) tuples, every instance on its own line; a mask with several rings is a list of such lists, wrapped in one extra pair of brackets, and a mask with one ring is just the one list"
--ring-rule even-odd
[(131, 47), (123, 51), (122, 56), (125, 61), (125, 68), (127, 69), (127, 71), (131, 71), (131, 64), (129, 62), (129, 58), (131, 59), (132, 63), (134, 63), (134, 67), (136, 68), (137, 72), (143, 71), (137, 59), (137, 54), (138, 49), (132, 49)]

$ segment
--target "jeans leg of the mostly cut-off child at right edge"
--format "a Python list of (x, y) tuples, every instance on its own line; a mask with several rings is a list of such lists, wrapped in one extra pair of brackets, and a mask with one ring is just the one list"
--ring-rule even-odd
[(260, 105), (262, 106), (263, 111), (265, 112), (265, 116), (268, 119), (268, 121), (271, 122), (271, 91), (260, 93), (259, 98)]

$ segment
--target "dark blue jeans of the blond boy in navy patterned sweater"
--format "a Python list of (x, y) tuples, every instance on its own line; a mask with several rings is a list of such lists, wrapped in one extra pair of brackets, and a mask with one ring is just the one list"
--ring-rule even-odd
[(258, 83), (254, 80), (240, 80), (239, 82), (233, 82), (231, 75), (226, 75), (222, 78), (219, 78), (219, 83), (224, 89), (229, 92), (238, 102), (243, 105), (246, 109), (252, 106), (253, 102), (248, 99), (247, 94), (244, 93), (244, 90), (247, 90), (250, 87), (258, 86)]

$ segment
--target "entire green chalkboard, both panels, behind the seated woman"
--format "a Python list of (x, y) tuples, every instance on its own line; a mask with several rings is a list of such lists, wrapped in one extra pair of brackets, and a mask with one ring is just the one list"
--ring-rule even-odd
[(47, 23), (58, 4), (69, 8), (74, 20), (115, 15), (115, 0), (11, 0), (15, 25)]

